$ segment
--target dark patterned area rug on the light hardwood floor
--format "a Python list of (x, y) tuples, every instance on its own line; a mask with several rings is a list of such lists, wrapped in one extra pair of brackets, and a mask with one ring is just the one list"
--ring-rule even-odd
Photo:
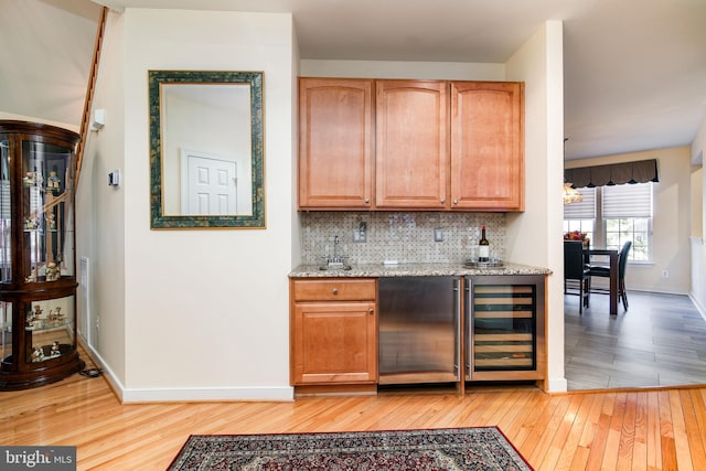
[(192, 435), (169, 471), (532, 470), (496, 427)]

